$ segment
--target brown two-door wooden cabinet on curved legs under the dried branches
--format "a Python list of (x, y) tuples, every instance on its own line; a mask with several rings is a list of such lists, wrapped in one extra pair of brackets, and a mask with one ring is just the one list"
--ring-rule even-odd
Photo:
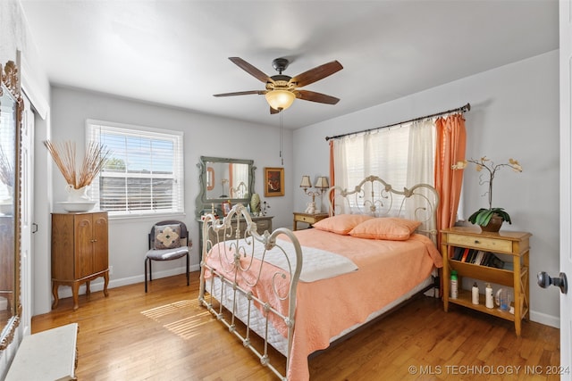
[(106, 211), (52, 213), (52, 294), (59, 302), (58, 286), (71, 286), (73, 309), (77, 310), (80, 285), (104, 277), (109, 284), (108, 220)]

